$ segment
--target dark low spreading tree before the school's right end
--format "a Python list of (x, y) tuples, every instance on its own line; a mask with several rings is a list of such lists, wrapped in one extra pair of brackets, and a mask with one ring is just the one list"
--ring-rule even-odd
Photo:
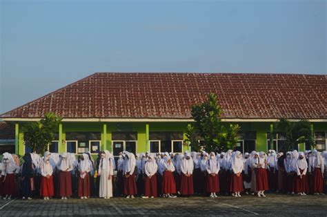
[(286, 118), (281, 118), (279, 122), (275, 122), (274, 129), (275, 133), (284, 133), (286, 137), (284, 150), (280, 151), (292, 151), (298, 144), (304, 142), (306, 147), (314, 147), (315, 145), (308, 120), (290, 122)]

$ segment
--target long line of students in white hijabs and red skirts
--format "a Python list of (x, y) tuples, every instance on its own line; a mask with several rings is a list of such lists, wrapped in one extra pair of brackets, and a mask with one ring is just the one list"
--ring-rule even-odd
[[(79, 158), (75, 154), (50, 153), (43, 158), (26, 153), (19, 166), (17, 155), (3, 153), (0, 164), (0, 196), (10, 199), (14, 194), (32, 199), (39, 194), (48, 200), (59, 196), (65, 200), (76, 192), (79, 198), (116, 196), (155, 198), (163, 196), (203, 195), (217, 193), (241, 197), (241, 193), (266, 197), (267, 190), (288, 194), (323, 195), (327, 172), (324, 151), (288, 151), (286, 156), (269, 150), (241, 154), (228, 150), (206, 153), (119, 153), (117, 178), (115, 159), (109, 151), (100, 152), (96, 162), (90, 153)], [(19, 182), (17, 182), (19, 180)], [(17, 192), (18, 191), (18, 192)]]

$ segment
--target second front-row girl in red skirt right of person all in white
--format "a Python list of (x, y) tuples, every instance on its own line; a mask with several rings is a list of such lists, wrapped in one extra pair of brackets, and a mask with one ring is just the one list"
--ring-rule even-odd
[(157, 170), (158, 165), (154, 155), (149, 155), (149, 160), (144, 166), (146, 178), (144, 179), (144, 196), (142, 198), (157, 197)]

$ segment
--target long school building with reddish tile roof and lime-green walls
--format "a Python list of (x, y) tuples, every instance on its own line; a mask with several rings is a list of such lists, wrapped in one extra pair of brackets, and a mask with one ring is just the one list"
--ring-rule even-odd
[(217, 94), (222, 121), (241, 126), (237, 149), (242, 152), (281, 149), (283, 135), (274, 133), (270, 142), (273, 123), (281, 117), (309, 120), (317, 149), (326, 150), (327, 75), (95, 73), (0, 117), (14, 124), (19, 155), (30, 151), (23, 123), (47, 112), (63, 117), (51, 152), (179, 153), (190, 149), (184, 142), (186, 127), (194, 122), (190, 107), (209, 93)]

